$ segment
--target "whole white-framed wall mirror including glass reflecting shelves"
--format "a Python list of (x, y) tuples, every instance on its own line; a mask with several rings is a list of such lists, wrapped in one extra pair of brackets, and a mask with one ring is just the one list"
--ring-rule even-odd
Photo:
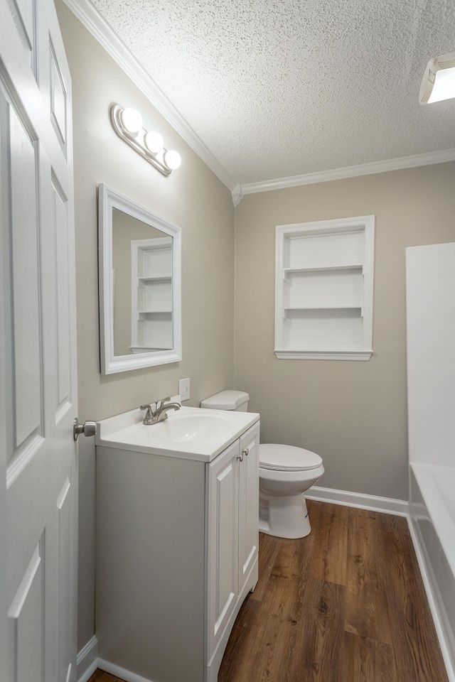
[(100, 185), (101, 372), (178, 362), (181, 229)]

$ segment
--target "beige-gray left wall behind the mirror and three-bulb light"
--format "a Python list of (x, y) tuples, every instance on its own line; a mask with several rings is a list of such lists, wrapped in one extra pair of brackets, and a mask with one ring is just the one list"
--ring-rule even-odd
[[(102, 419), (176, 394), (191, 400), (232, 386), (234, 206), (228, 189), (156, 112), (75, 16), (57, 3), (73, 79), (79, 419)], [(109, 105), (139, 109), (148, 129), (181, 153), (166, 178), (114, 133)], [(106, 183), (182, 228), (183, 360), (102, 377), (97, 302), (97, 185)], [(95, 448), (80, 439), (78, 649), (94, 633)]]

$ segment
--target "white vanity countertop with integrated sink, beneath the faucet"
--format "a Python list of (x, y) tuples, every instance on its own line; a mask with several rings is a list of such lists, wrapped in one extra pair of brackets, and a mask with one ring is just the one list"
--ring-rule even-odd
[[(171, 400), (176, 402), (179, 397)], [(95, 443), (108, 448), (211, 462), (258, 420), (259, 414), (250, 412), (181, 407), (168, 411), (166, 421), (145, 426), (144, 411), (136, 409), (99, 421)]]

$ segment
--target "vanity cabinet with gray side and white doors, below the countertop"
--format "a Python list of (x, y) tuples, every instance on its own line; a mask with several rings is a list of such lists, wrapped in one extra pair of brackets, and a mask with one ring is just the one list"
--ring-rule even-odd
[(101, 669), (127, 682), (216, 682), (257, 583), (259, 416), (251, 417), (209, 461), (98, 443)]

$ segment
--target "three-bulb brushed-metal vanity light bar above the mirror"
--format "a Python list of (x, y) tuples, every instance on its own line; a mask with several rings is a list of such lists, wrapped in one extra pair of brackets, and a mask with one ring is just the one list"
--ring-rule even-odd
[(156, 131), (146, 131), (141, 114), (136, 109), (123, 109), (112, 104), (109, 109), (112, 127), (119, 137), (135, 149), (163, 175), (170, 175), (181, 164), (178, 151), (164, 148), (163, 138)]

